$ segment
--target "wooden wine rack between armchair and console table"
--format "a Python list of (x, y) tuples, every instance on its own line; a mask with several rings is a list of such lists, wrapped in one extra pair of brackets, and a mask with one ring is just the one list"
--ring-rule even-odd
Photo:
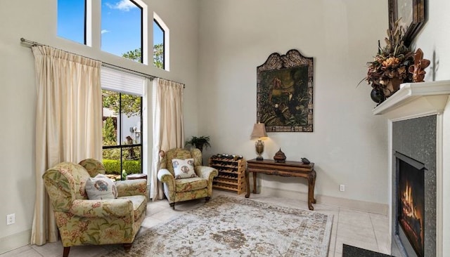
[(235, 191), (238, 195), (245, 192), (245, 169), (247, 161), (237, 159), (236, 155), (215, 154), (210, 158), (210, 166), (219, 171), (212, 181), (212, 187)]

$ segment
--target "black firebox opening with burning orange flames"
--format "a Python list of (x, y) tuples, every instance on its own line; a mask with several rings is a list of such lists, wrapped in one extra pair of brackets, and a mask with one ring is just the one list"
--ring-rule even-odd
[[(413, 249), (417, 256), (424, 256), (425, 243), (425, 165), (395, 152), (397, 163), (397, 234), (407, 249)], [(405, 238), (407, 240), (405, 240)], [(409, 244), (405, 246), (405, 244)], [(411, 251), (411, 250), (410, 250)], [(411, 254), (409, 254), (411, 255)]]

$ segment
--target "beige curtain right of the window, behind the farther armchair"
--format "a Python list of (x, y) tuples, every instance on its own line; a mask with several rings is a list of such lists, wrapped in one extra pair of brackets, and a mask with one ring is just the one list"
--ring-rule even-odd
[(162, 199), (164, 192), (158, 181), (160, 150), (184, 147), (183, 84), (166, 79), (153, 79), (153, 147), (150, 171), (150, 197)]

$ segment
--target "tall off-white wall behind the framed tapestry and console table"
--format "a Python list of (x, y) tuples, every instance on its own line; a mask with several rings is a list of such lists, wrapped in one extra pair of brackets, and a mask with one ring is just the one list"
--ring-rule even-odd
[[(387, 19), (387, 1), (200, 1), (199, 132), (212, 145), (206, 153), (256, 157), (250, 133), (257, 66), (295, 48), (314, 58), (314, 133), (269, 133), (263, 157), (281, 147), (288, 160), (309, 158), (316, 195), (387, 204), (386, 119), (372, 115), (371, 87), (356, 86)], [(301, 178), (264, 176), (262, 186), (281, 196), (307, 192)]]

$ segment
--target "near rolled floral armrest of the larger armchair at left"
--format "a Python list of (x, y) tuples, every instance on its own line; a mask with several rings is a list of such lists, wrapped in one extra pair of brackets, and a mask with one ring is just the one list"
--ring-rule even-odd
[(128, 217), (134, 220), (133, 202), (129, 199), (85, 200), (72, 202), (69, 210), (75, 216), (86, 218), (98, 217)]

